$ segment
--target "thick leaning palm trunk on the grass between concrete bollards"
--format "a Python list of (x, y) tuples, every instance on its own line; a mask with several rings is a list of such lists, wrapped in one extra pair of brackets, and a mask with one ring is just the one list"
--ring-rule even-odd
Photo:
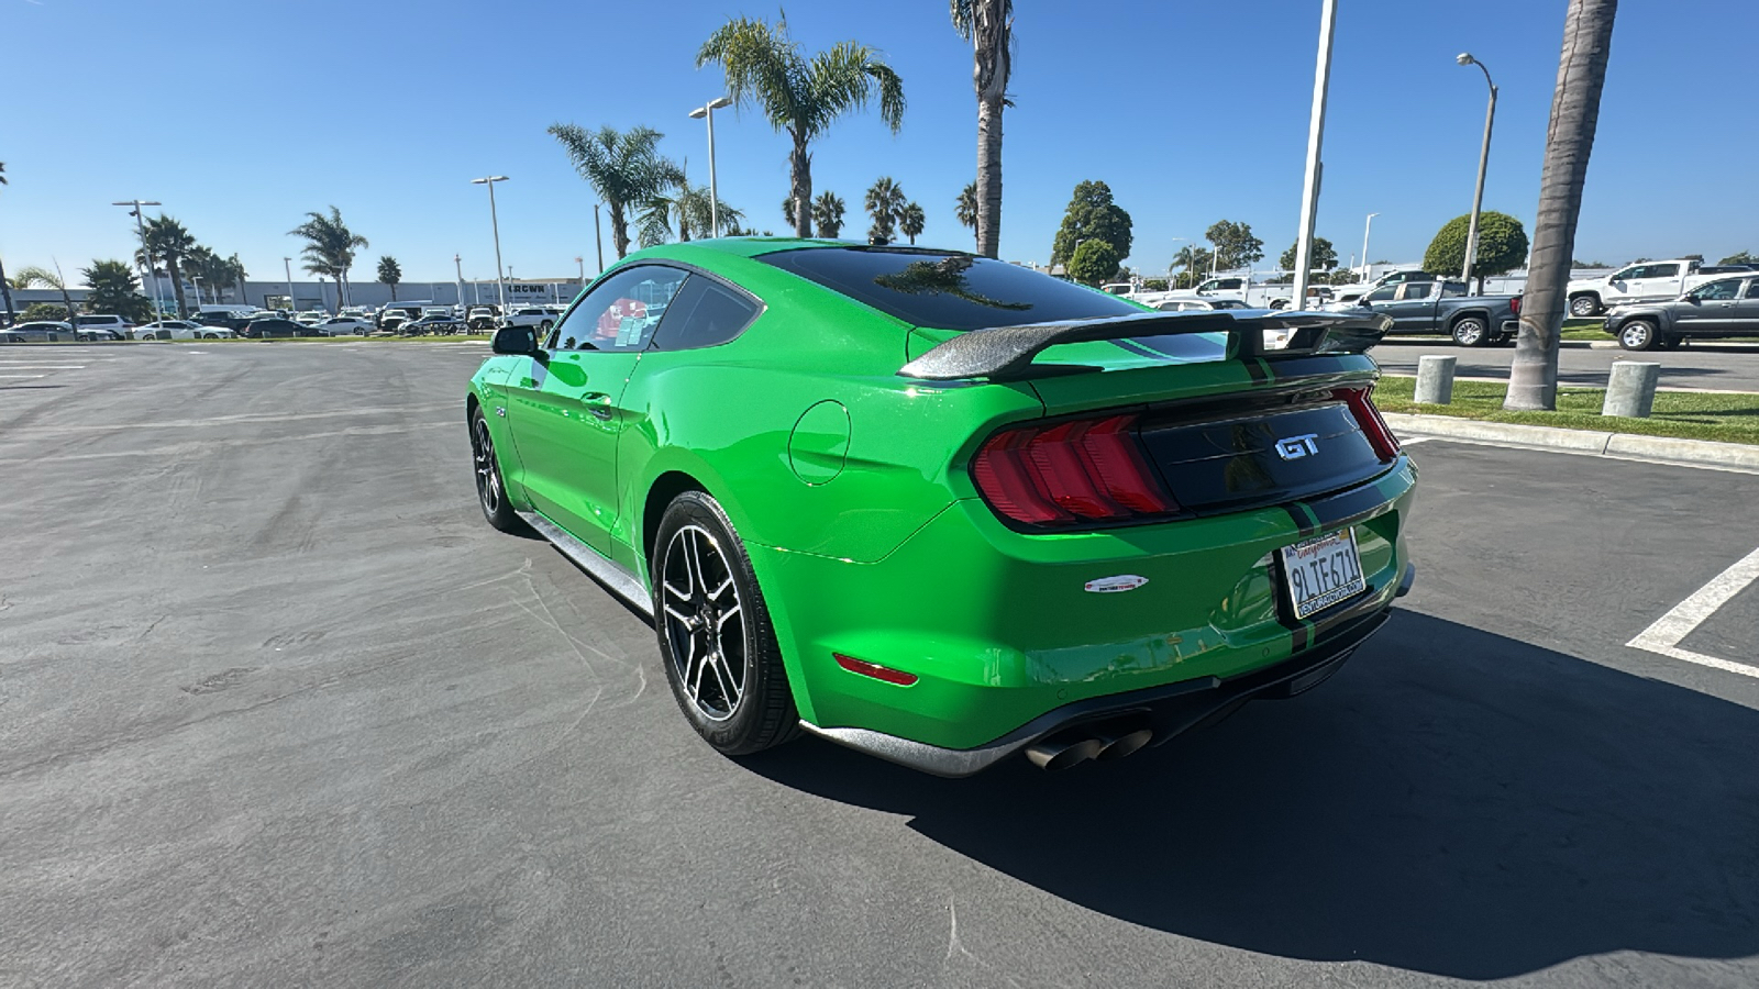
[(1564, 326), (1564, 294), (1576, 246), (1581, 185), (1588, 176), (1594, 128), (1601, 118), (1601, 86), (1613, 44), (1618, 0), (1569, 0), (1564, 55), (1551, 93), (1544, 169), (1539, 176), (1539, 218), (1534, 222), (1532, 266), (1522, 304), (1522, 334), (1509, 368), (1511, 410), (1557, 408), (1557, 347)]

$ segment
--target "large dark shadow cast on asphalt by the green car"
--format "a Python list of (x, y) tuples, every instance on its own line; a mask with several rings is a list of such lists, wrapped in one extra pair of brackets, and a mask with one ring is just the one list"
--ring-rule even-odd
[(1323, 688), (1117, 764), (744, 766), (1131, 924), (1488, 980), (1759, 952), (1755, 753), (1748, 707), (1398, 612)]

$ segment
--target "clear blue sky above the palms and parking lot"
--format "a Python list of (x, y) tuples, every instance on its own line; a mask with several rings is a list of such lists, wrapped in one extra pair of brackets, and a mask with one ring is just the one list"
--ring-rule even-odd
[[(1325, 136), (1317, 232), (1340, 259), (1418, 260), (1435, 229), (1471, 208), (1485, 111), (1471, 51), (1500, 86), (1485, 208), (1529, 231), (1564, 0), (1342, 0)], [(0, 257), (69, 271), (128, 257), (116, 199), (158, 199), (253, 278), (297, 255), (285, 231), (341, 208), (410, 282), (493, 278), (489, 208), (514, 275), (559, 276), (593, 255), (593, 190), (545, 128), (649, 125), (672, 158), (707, 178), (702, 121), (721, 92), (695, 51), (732, 14), (772, 4), (670, 0), (459, 4), (426, 0), (0, 0), (11, 39), (0, 83)], [(809, 49), (858, 39), (904, 79), (892, 136), (855, 114), (816, 144), (814, 188), (851, 213), (890, 174), (922, 202), (931, 245), (967, 248), (953, 197), (974, 174), (971, 55), (945, 0), (795, 2)], [(1047, 260), (1082, 179), (1106, 181), (1135, 220), (1129, 264), (1166, 267), (1219, 218), (1295, 239), (1317, 0), (1018, 0), (1006, 114), (1003, 257)], [(1752, 92), (1750, 0), (1627, 0), (1618, 12), (1576, 255), (1622, 262), (1759, 250), (1750, 174), (1759, 132), (1731, 123)], [(62, 39), (63, 44), (53, 39)], [(786, 139), (753, 111), (716, 114), (721, 197), (783, 232)], [(865, 232), (865, 218), (850, 229)], [(612, 257), (609, 227), (607, 260)]]

